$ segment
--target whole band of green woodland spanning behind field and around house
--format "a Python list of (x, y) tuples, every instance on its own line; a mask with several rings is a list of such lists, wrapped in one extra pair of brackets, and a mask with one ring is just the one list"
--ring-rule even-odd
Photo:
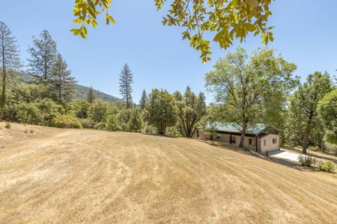
[(251, 54), (237, 48), (216, 61), (205, 75), (206, 89), (215, 95), (210, 105), (204, 93), (189, 86), (184, 93), (144, 90), (136, 103), (127, 64), (119, 74), (121, 100), (79, 86), (46, 30), (33, 37), (28, 52), (23, 71), (16, 39), (0, 22), (0, 120), (186, 137), (195, 136), (197, 127), (211, 129), (216, 121), (237, 124), (242, 135), (249, 126), (268, 123), (281, 131), (284, 145), (303, 147), (305, 153), (307, 147), (336, 150), (336, 79), (313, 71), (301, 83), (293, 74), (296, 65), (270, 48)]

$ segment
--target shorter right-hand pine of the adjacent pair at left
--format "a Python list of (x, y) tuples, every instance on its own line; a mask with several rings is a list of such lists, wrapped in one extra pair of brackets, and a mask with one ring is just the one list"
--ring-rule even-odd
[(72, 72), (67, 70), (67, 62), (62, 59), (62, 55), (58, 53), (54, 62), (52, 72), (51, 86), (54, 91), (58, 93), (58, 102), (63, 100), (70, 100), (74, 93), (75, 84), (77, 81), (71, 76)]

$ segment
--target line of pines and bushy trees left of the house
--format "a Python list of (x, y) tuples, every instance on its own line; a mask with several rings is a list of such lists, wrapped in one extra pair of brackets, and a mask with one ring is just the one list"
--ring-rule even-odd
[[(119, 74), (122, 100), (108, 103), (97, 98), (91, 87), (86, 99), (74, 100), (77, 81), (58, 52), (47, 30), (33, 37), (29, 47), (32, 81), (20, 77), (20, 52), (10, 29), (0, 23), (1, 110), (0, 119), (60, 128), (90, 128), (191, 137), (197, 122), (206, 113), (204, 93), (195, 95), (190, 87), (176, 91), (144, 90), (139, 104), (133, 102), (133, 74), (127, 64)], [(11, 74), (8, 78), (7, 74)], [(6, 87), (8, 85), (8, 88)]]

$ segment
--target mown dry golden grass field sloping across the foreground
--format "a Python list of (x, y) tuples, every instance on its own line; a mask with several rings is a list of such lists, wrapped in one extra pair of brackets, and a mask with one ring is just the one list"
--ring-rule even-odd
[(337, 223), (336, 173), (199, 140), (4, 125), (1, 224)]

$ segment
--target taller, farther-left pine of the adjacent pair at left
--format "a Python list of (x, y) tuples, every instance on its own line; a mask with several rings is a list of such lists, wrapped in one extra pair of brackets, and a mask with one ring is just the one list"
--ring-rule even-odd
[(53, 63), (56, 59), (58, 50), (56, 42), (51, 38), (51, 34), (44, 30), (40, 38), (33, 37), (34, 47), (29, 48), (31, 58), (28, 59), (29, 72), (37, 77), (41, 83), (47, 85), (51, 81)]

